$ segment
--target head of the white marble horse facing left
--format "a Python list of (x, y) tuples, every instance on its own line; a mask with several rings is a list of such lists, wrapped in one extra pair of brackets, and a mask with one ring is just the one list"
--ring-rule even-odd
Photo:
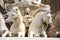
[(17, 18), (17, 16), (19, 15), (18, 10), (19, 10), (18, 7), (13, 7), (12, 10), (6, 14), (7, 16), (6, 21), (7, 22), (14, 21), (14, 19)]

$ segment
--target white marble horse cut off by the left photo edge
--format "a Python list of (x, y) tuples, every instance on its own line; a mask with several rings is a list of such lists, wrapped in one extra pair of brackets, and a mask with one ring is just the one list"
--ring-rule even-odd
[(5, 25), (5, 20), (1, 12), (0, 12), (0, 31), (2, 33), (2, 37), (6, 37), (6, 35), (9, 33), (9, 30)]

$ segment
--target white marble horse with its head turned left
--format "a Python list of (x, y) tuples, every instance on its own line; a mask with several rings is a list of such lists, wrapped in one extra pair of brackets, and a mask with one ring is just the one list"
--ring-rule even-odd
[(13, 7), (10, 12), (7, 13), (7, 22), (13, 21), (13, 24), (10, 28), (10, 32), (18, 34), (19, 37), (25, 36), (25, 25), (23, 23), (23, 17), (18, 7)]

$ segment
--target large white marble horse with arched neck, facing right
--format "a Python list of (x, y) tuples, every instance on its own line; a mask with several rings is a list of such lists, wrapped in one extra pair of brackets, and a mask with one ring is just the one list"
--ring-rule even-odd
[[(44, 5), (44, 7), (40, 8), (40, 10), (37, 12), (35, 17), (32, 20), (32, 23), (29, 26), (29, 37), (38, 36), (40, 37), (41, 34), (44, 35), (44, 37), (47, 37), (46, 29), (49, 23), (48, 15), (50, 12), (50, 6)], [(46, 26), (44, 26), (44, 22), (46, 23)]]

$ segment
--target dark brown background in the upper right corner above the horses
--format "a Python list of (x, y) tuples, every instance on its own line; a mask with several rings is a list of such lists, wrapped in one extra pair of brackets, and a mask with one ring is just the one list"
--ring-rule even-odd
[(53, 14), (60, 11), (60, 0), (42, 0), (42, 3), (49, 4)]

